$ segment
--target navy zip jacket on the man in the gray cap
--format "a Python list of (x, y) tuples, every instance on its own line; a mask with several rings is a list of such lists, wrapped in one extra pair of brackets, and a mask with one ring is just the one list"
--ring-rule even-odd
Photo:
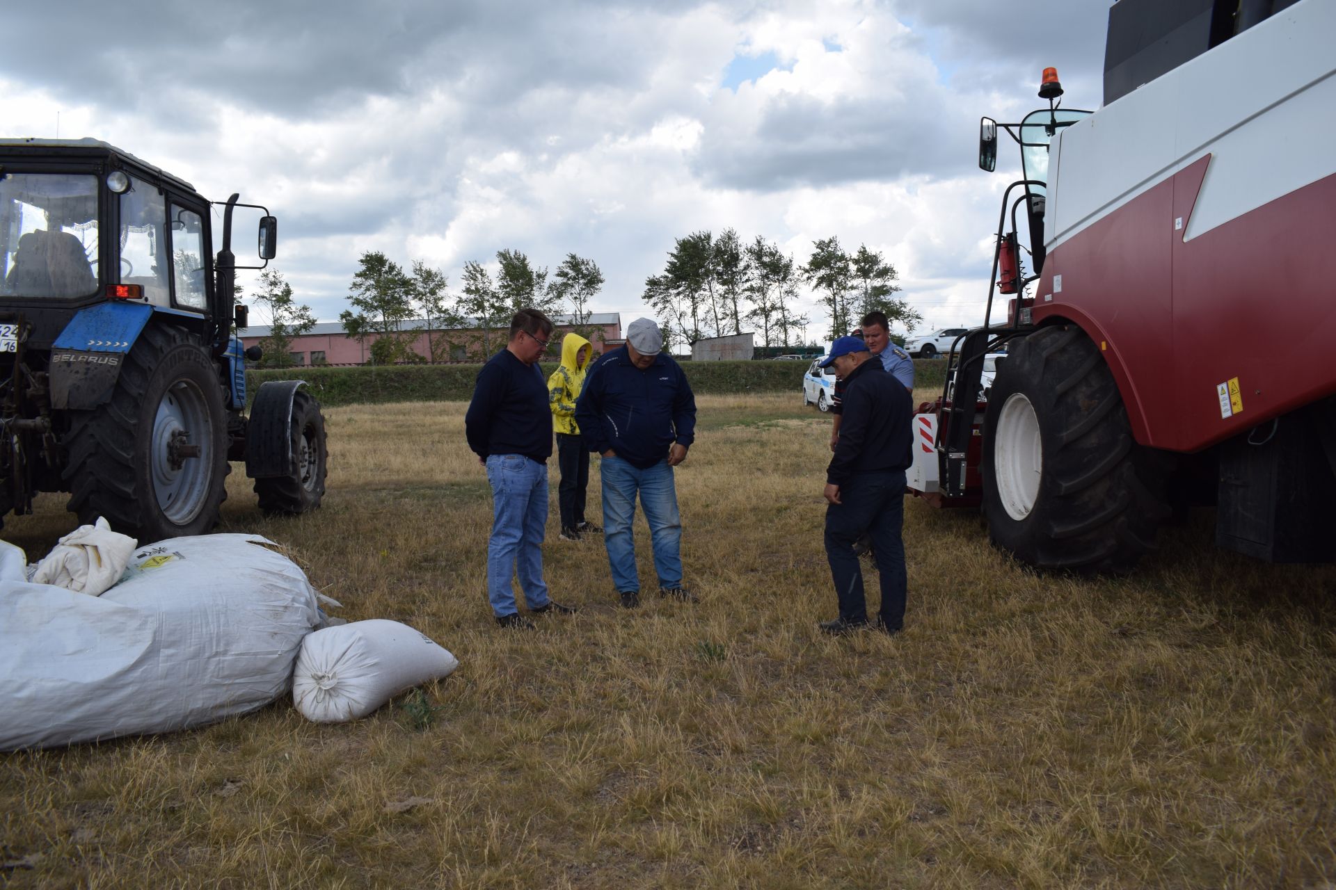
[(696, 396), (669, 356), (660, 352), (641, 371), (621, 347), (589, 368), (576, 400), (576, 424), (589, 451), (612, 448), (647, 470), (664, 460), (675, 442), (689, 447), (696, 440)]

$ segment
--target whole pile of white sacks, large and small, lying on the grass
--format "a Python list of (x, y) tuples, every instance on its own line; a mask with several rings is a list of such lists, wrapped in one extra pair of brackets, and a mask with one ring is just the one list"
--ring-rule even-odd
[(329, 626), (337, 603), (273, 547), (138, 547), (99, 519), (29, 567), (0, 542), (0, 750), (202, 726), (290, 690), (313, 721), (357, 719), (458, 666), (398, 622)]

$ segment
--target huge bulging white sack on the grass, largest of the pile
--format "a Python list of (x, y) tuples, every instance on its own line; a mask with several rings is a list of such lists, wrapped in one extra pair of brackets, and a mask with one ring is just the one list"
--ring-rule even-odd
[(180, 730), (283, 695), (319, 614), (267, 543), (140, 547), (102, 596), (17, 580), (0, 555), (0, 750)]

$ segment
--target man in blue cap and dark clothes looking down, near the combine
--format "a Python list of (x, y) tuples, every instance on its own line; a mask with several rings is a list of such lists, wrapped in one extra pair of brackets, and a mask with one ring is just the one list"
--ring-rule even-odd
[(843, 422), (826, 468), (826, 560), (839, 598), (839, 616), (823, 622), (827, 634), (867, 627), (863, 570), (854, 542), (870, 535), (882, 582), (882, 607), (872, 624), (887, 634), (904, 626), (904, 471), (912, 444), (912, 398), (867, 344), (842, 336), (822, 367), (844, 379)]

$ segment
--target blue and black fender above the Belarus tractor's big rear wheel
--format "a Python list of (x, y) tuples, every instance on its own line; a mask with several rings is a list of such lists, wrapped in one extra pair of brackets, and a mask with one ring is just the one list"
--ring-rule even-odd
[(80, 310), (51, 346), (51, 407), (90, 411), (107, 402), (126, 354), (152, 314), (144, 303)]

